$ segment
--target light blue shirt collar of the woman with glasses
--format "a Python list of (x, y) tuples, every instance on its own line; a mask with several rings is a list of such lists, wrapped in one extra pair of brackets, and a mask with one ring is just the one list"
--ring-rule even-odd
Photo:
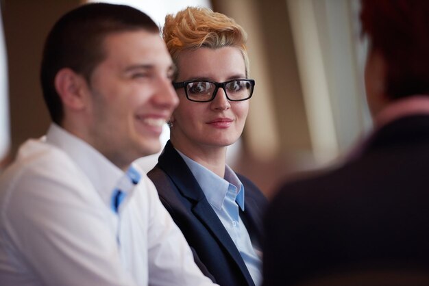
[(236, 196), (236, 203), (244, 211), (244, 187), (240, 179), (236, 176), (235, 172), (226, 165), (225, 166), (225, 179), (219, 177), (208, 168), (198, 164), (193, 159), (187, 157), (182, 152), (176, 149), (177, 153), (184, 159), (189, 170), (199, 183), (201, 190), (203, 190), (208, 203), (217, 209), (221, 209), (225, 196), (227, 195), (230, 185), (234, 185), (238, 194)]

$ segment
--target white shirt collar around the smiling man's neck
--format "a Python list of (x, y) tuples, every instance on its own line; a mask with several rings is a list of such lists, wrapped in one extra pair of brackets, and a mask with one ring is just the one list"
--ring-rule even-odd
[(46, 141), (69, 155), (99, 192), (103, 201), (110, 206), (112, 193), (118, 184), (123, 184), (125, 172), (101, 155), (93, 146), (55, 123), (49, 127)]

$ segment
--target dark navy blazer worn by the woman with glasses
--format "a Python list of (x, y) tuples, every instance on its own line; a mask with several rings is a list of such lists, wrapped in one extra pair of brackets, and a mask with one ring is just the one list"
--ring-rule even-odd
[[(171, 142), (148, 174), (160, 200), (182, 230), (201, 271), (223, 286), (254, 285), (228, 231)], [(265, 196), (249, 179), (237, 174), (245, 188), (245, 211), (240, 210), (250, 239), (260, 248)]]

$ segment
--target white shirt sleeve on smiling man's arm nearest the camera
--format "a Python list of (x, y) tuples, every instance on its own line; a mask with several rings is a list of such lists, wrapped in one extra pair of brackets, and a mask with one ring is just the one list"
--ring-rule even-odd
[[(52, 159), (52, 158), (51, 158)], [(64, 163), (60, 161), (60, 163)], [(108, 212), (73, 164), (27, 166), (11, 181), (3, 227), (29, 281), (42, 285), (136, 285), (121, 265)]]

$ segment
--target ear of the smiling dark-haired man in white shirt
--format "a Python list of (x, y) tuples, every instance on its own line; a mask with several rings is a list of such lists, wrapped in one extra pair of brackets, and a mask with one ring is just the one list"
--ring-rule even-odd
[(86, 80), (71, 68), (62, 68), (58, 71), (55, 77), (55, 88), (64, 107), (80, 110), (86, 106), (88, 90)]

